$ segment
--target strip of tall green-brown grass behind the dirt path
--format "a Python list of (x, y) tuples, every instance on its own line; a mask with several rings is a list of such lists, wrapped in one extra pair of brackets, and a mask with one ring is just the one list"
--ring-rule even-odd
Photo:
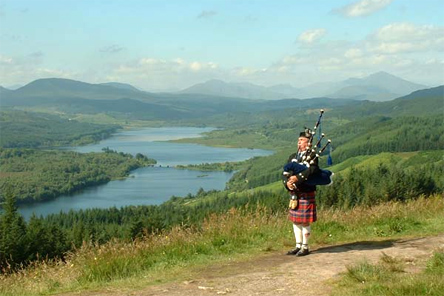
[[(313, 225), (311, 247), (442, 233), (443, 213), (444, 200), (438, 195), (345, 212), (321, 210)], [(131, 243), (84, 243), (65, 261), (35, 263), (14, 274), (1, 275), (0, 295), (141, 287), (185, 279), (194, 268), (215, 262), (244, 260), (269, 251), (283, 253), (294, 244), (286, 216), (284, 205), (275, 214), (260, 205), (247, 205), (211, 215), (199, 226), (175, 227)], [(430, 263), (430, 268), (435, 265)]]

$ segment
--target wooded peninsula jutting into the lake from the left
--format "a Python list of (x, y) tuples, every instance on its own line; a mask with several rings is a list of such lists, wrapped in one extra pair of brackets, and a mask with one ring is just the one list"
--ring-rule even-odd
[(104, 148), (103, 153), (0, 148), (0, 200), (8, 188), (17, 202), (54, 199), (62, 194), (127, 177), (130, 171), (155, 164), (140, 153), (135, 156)]

